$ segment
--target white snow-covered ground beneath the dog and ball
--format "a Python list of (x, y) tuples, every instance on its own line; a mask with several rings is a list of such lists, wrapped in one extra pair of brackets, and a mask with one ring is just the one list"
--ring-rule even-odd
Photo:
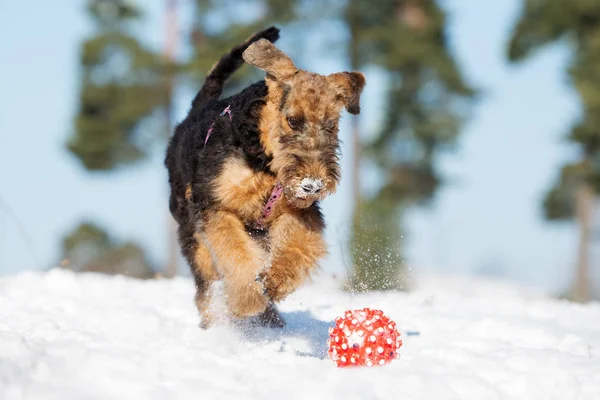
[[(0, 399), (600, 399), (598, 303), (456, 277), (410, 293), (337, 286), (291, 296), (283, 330), (202, 331), (184, 278), (0, 278)], [(401, 358), (337, 369), (327, 330), (365, 306), (398, 323)]]

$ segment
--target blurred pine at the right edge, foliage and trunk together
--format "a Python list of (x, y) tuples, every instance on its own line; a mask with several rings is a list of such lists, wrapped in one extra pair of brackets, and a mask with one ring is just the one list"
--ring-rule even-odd
[(569, 77), (579, 92), (583, 113), (569, 141), (580, 148), (579, 160), (564, 166), (544, 200), (549, 220), (576, 219), (580, 226), (572, 298), (590, 296), (589, 253), (592, 211), (600, 191), (600, 2), (526, 0), (514, 27), (508, 58), (523, 61), (534, 51), (562, 41), (573, 52)]

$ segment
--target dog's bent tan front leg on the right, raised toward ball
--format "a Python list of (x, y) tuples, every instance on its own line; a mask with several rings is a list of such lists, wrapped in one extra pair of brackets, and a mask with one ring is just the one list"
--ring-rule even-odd
[(300, 286), (327, 253), (320, 230), (306, 226), (292, 214), (271, 226), (271, 266), (259, 275), (270, 300), (281, 301)]

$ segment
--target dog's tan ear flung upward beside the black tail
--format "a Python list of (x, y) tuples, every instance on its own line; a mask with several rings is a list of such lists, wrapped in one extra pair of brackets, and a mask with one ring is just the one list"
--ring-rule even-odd
[(267, 76), (278, 81), (284, 82), (298, 72), (292, 60), (266, 39), (252, 43), (242, 56), (248, 64), (262, 69)]

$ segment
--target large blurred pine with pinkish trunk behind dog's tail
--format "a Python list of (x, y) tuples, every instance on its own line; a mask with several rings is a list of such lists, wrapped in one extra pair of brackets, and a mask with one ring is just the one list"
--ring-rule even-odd
[[(163, 144), (171, 134), (178, 81), (191, 77), (197, 87), (203, 74), (233, 45), (267, 25), (289, 22), (295, 15), (295, 3), (286, 0), (196, 0), (192, 2), (196, 11), (190, 35), (192, 55), (178, 62), (177, 0), (164, 1), (162, 54), (146, 47), (135, 29), (143, 15), (140, 6), (128, 0), (89, 0), (87, 4), (96, 30), (81, 49), (79, 110), (67, 148), (89, 171), (112, 171), (144, 160), (153, 145)], [(255, 17), (249, 18), (242, 10)], [(245, 85), (251, 71), (244, 69), (228, 86)], [(174, 276), (179, 251), (170, 215), (168, 240), (165, 275)]]

